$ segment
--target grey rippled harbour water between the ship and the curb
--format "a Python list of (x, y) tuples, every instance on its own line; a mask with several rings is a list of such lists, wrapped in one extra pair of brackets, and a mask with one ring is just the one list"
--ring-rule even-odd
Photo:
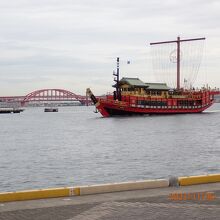
[(0, 191), (220, 172), (220, 104), (102, 118), (94, 107), (0, 115)]

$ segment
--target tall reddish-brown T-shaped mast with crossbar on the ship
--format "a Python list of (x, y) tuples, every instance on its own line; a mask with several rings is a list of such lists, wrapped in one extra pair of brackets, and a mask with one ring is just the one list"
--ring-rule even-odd
[(176, 88), (177, 90), (180, 89), (180, 43), (181, 42), (186, 42), (186, 41), (196, 41), (196, 40), (205, 40), (205, 37), (202, 38), (192, 38), (192, 39), (184, 39), (181, 40), (180, 37), (177, 37), (177, 40), (173, 41), (163, 41), (163, 42), (155, 42), (155, 43), (150, 43), (150, 45), (156, 45), (156, 44), (169, 44), (169, 43), (176, 43), (177, 44), (177, 49), (176, 49)]

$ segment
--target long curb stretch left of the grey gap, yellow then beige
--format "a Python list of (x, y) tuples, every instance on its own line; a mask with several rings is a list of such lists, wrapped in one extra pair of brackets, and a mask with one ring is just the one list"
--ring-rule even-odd
[(58, 198), (127, 190), (168, 187), (165, 179), (0, 193), (0, 202)]

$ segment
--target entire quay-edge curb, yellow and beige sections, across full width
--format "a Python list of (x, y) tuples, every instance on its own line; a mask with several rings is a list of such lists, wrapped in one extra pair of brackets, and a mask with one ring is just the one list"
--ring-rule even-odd
[[(180, 186), (215, 183), (215, 182), (220, 182), (220, 174), (188, 176), (188, 177), (179, 177), (175, 179), (177, 180)], [(20, 192), (5, 192), (5, 193), (0, 193), (0, 202), (152, 189), (152, 188), (169, 187), (172, 185), (175, 186), (175, 184), (170, 184), (169, 180), (167, 179), (157, 179), (157, 180), (143, 180), (143, 181), (123, 182), (123, 183), (100, 184), (100, 185), (91, 185), (91, 186), (27, 190)]]

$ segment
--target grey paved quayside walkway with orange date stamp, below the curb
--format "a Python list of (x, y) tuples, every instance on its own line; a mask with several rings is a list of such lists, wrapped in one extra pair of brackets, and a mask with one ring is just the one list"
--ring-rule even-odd
[(0, 220), (214, 220), (220, 183), (0, 203)]

